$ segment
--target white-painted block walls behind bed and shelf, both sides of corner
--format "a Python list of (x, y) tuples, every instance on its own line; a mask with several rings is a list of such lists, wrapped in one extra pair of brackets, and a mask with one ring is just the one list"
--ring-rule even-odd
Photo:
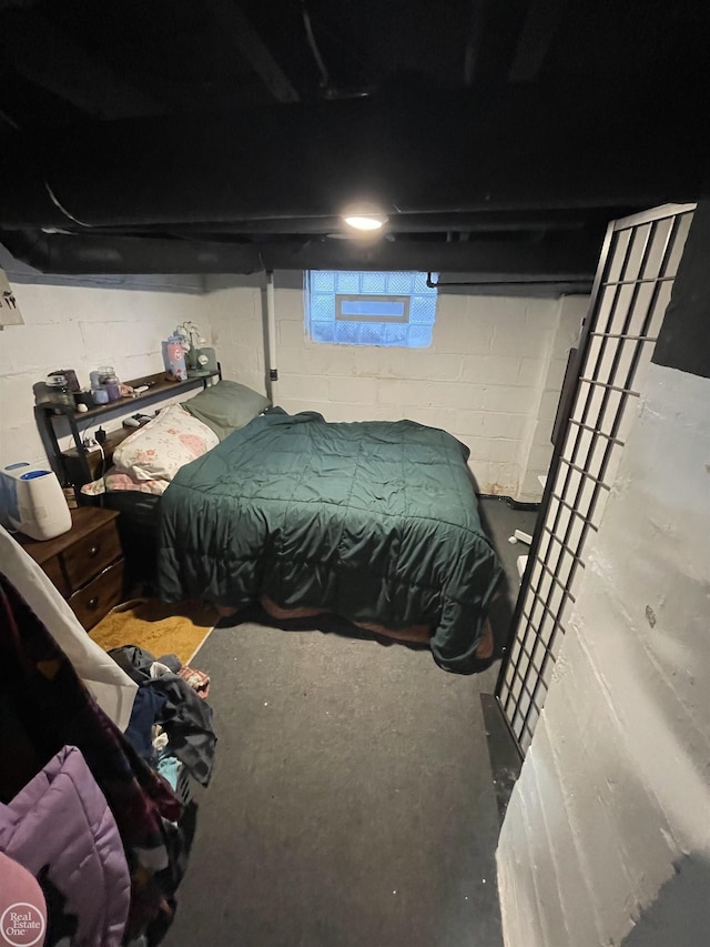
[[(257, 285), (210, 278), (209, 292), (199, 294), (189, 279), (184, 286), (172, 278), (48, 279), (22, 273), (13, 282), (27, 324), (0, 338), (1, 463), (43, 457), (33, 382), (60, 366), (73, 367), (82, 383), (100, 364), (124, 379), (159, 371), (162, 340), (186, 319), (214, 344), (225, 377), (266, 391)], [(305, 338), (302, 291), (280, 289), (275, 399), (329, 421), (410, 417), (444, 427), (470, 447), (481, 492), (538, 500), (528, 466), (546, 465), (548, 449), (536, 439), (551, 430), (566, 311), (554, 300), (442, 294), (430, 349), (321, 345)]]

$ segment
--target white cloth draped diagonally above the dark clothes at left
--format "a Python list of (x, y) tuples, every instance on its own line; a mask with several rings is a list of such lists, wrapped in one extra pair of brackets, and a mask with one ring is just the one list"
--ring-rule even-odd
[(0, 572), (42, 622), (101, 709), (125, 731), (138, 685), (92, 642), (34, 560), (0, 526)]

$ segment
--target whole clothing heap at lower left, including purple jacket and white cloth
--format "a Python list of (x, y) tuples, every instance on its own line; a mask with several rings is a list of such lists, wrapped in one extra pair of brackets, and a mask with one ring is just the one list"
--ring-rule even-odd
[[(18, 943), (43, 925), (38, 944), (153, 947), (195, 828), (179, 776), (206, 785), (214, 764), (209, 681), (112, 659), (2, 527), (0, 562), (0, 916)], [(6, 904), (27, 873), (37, 904)]]

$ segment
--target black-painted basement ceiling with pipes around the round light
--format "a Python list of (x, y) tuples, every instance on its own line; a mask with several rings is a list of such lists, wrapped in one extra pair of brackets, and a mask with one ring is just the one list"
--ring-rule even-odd
[[(700, 194), (706, 0), (0, 0), (0, 241), (44, 272), (588, 288)], [(355, 200), (389, 215), (344, 239)]]

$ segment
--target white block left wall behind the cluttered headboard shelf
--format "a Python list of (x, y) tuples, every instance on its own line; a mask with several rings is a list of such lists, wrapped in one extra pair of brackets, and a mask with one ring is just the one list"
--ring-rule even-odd
[[(210, 339), (205, 296), (172, 278), (150, 278), (146, 288), (134, 289), (128, 278), (116, 279), (110, 286), (69, 280), (55, 285), (48, 278), (20, 282), (12, 280), (11, 271), (8, 276), (26, 324), (0, 332), (3, 466), (45, 460), (32, 412), (32, 385), (48, 372), (74, 369), (82, 385), (88, 385), (89, 372), (99, 365), (113, 365), (123, 380), (140, 377), (162, 370), (161, 343), (178, 323), (191, 320)], [(103, 426), (112, 430), (120, 424), (119, 417)], [(64, 444), (69, 439), (62, 439)]]

